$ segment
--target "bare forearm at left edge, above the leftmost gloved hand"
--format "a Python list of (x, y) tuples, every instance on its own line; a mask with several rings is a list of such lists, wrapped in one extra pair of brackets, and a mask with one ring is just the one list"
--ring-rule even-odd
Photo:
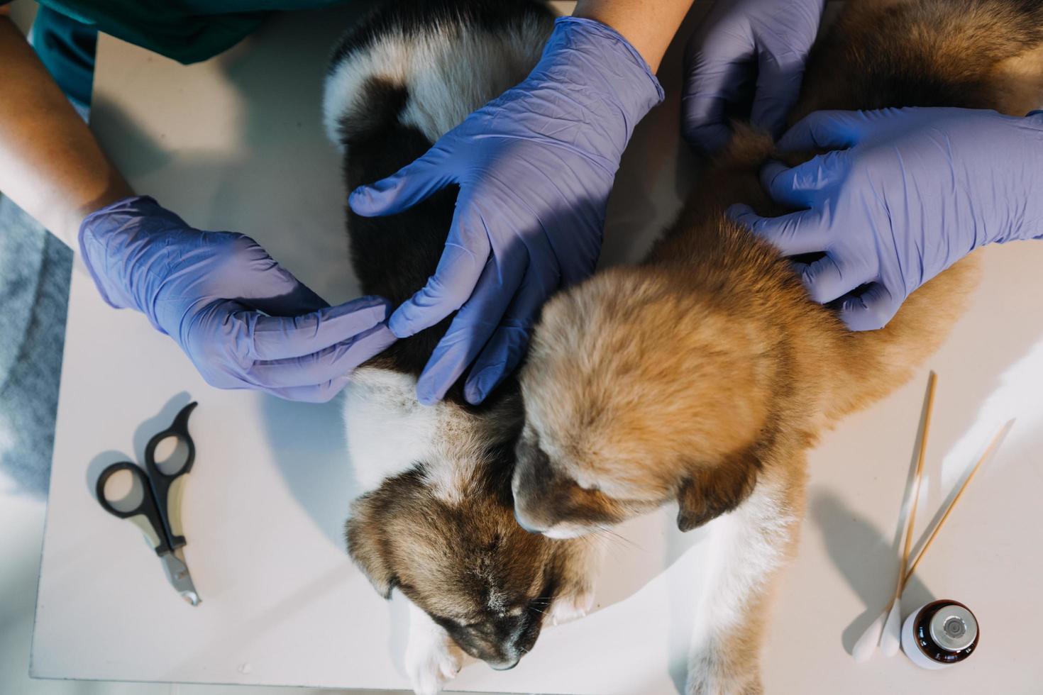
[(0, 193), (75, 248), (82, 219), (130, 187), (2, 16), (0, 66)]

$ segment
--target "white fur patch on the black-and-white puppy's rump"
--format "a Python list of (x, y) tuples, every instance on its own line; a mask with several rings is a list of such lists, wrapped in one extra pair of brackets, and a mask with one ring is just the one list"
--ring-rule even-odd
[(490, 94), (522, 81), (539, 58), (549, 31), (550, 23), (529, 20), (496, 34), (457, 24), (427, 27), (408, 36), (383, 34), (347, 54), (326, 76), (322, 99), (326, 135), (341, 146), (340, 119), (367, 107), (362, 86), (379, 78), (408, 88), (402, 121), (434, 142), (488, 101)]

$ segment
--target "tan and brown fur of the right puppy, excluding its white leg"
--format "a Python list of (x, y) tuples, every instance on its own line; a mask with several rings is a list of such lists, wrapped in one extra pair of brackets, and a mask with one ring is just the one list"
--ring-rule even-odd
[[(1040, 6), (852, 2), (812, 52), (795, 113), (871, 100), (1024, 114), (1040, 96), (1024, 86), (1043, 74), (1024, 58), (1043, 45)], [(1032, 99), (1012, 103), (1012, 95)], [(523, 374), (526, 460), (538, 446), (556, 473), (636, 506), (665, 501), (693, 475), (741, 496), (779, 432), (801, 432), (810, 445), (938, 348), (975, 284), (975, 259), (920, 288), (887, 328), (849, 332), (807, 298), (789, 262), (723, 214), (733, 202), (784, 212), (758, 179), (772, 156), (780, 155), (766, 135), (739, 128), (644, 264), (610, 269), (548, 303)], [(710, 483), (709, 469), (736, 480)], [(515, 492), (526, 516), (539, 513), (538, 500)]]

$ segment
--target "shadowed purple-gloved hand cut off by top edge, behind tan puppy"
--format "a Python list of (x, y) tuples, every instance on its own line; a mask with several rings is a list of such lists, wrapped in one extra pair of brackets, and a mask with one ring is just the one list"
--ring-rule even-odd
[[(717, 152), (728, 119), (753, 96), (750, 121), (782, 134), (825, 0), (718, 0), (685, 53), (681, 128), (694, 147)], [(756, 88), (754, 88), (756, 75)], [(755, 93), (755, 94), (754, 94)]]

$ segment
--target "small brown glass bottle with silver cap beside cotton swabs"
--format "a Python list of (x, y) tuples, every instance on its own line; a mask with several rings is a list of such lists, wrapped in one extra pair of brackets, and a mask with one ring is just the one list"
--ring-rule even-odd
[(902, 651), (925, 669), (944, 669), (964, 661), (977, 648), (977, 642), (974, 614), (949, 599), (920, 606), (902, 626)]

